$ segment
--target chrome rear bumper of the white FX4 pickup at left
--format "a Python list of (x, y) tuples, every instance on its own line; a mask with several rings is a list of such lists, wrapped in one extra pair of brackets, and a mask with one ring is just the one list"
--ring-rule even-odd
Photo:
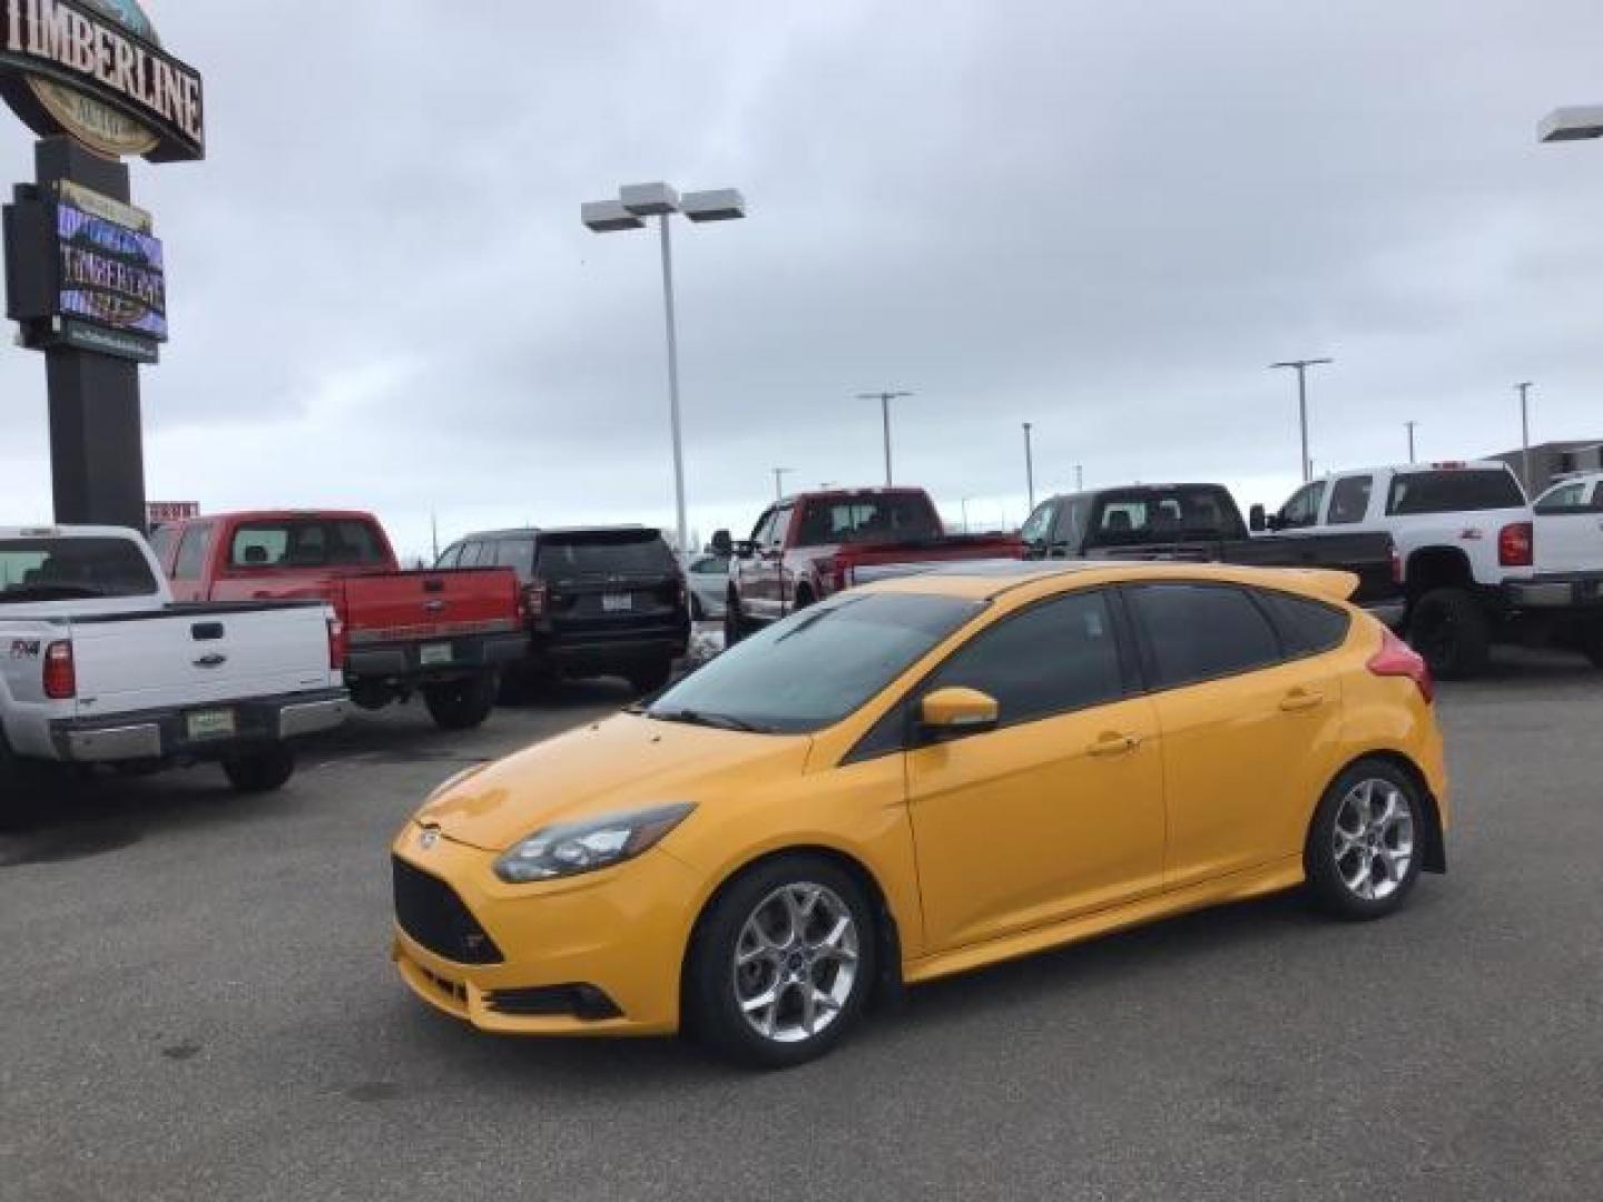
[[(232, 710), (234, 734), (196, 737), (189, 716)], [(67, 718), (50, 724), (50, 740), (63, 763), (111, 764), (162, 760), (223, 760), (263, 744), (329, 731), (345, 721), (345, 689), (287, 697), (252, 697), (189, 708), (146, 710), (111, 718)]]

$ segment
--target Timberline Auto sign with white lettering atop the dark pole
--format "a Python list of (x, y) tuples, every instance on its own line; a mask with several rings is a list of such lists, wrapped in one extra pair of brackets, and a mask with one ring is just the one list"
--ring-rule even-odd
[(0, 95), (40, 136), (111, 159), (205, 157), (200, 74), (160, 48), (135, 0), (0, 0)]

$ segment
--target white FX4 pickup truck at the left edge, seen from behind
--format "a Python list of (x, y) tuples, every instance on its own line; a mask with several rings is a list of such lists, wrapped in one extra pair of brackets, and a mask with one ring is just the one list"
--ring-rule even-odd
[(345, 721), (341, 638), (322, 601), (173, 604), (133, 530), (0, 529), (0, 816), (50, 764), (216, 761), (279, 789), (290, 739)]

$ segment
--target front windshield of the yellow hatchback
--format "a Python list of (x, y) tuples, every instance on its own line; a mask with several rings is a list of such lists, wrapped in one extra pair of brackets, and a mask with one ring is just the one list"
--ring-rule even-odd
[(858, 710), (981, 603), (923, 593), (848, 593), (803, 609), (659, 696), (664, 721), (805, 734)]

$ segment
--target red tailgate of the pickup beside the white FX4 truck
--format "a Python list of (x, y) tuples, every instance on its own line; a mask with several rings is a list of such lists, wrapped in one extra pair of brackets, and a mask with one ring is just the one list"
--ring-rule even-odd
[(510, 567), (373, 572), (335, 582), (351, 646), (417, 643), (518, 630), (518, 574)]

